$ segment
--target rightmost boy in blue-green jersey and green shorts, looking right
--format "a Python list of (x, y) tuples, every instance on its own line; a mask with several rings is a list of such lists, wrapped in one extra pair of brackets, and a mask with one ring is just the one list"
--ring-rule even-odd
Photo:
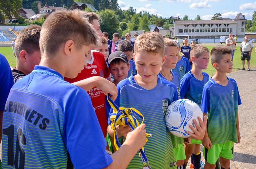
[(238, 105), (241, 99), (234, 79), (226, 76), (232, 72), (232, 49), (215, 46), (211, 50), (211, 64), (216, 73), (204, 85), (201, 109), (208, 113), (207, 129), (202, 139), (204, 146), (204, 169), (214, 169), (219, 158), (221, 169), (230, 168), (234, 142), (239, 143)]

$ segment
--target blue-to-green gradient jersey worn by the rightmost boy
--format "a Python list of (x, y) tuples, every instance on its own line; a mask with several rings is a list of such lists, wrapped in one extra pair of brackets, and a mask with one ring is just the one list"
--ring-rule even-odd
[(203, 89), (201, 109), (208, 112), (207, 132), (212, 144), (237, 142), (237, 113), (241, 99), (234, 79), (222, 86), (210, 79)]

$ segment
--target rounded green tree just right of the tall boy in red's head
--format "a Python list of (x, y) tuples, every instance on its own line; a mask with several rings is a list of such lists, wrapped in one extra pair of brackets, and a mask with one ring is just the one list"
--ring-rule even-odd
[(109, 35), (113, 35), (114, 32), (117, 32), (119, 21), (114, 11), (106, 9), (97, 13), (99, 15), (99, 24), (101, 25), (102, 32), (108, 32)]

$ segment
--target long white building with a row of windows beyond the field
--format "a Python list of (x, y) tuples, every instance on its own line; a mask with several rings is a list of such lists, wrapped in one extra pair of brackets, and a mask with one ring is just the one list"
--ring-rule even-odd
[[(174, 35), (179, 39), (199, 39), (199, 43), (219, 43), (220, 36), (237, 36), (241, 42), (245, 36), (245, 17), (238, 13), (234, 20), (177, 20), (174, 22)], [(190, 42), (190, 41), (189, 41)]]

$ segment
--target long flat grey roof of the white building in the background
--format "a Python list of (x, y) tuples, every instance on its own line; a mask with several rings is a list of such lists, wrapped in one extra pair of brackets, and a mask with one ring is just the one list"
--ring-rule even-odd
[(234, 20), (176, 20), (174, 24), (225, 24), (236, 23)]

